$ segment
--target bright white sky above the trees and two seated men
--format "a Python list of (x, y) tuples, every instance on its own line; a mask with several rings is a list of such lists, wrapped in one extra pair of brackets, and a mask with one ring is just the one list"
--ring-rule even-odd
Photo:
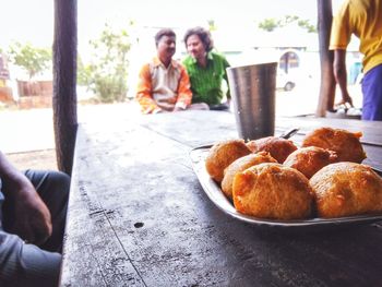
[[(344, 0), (332, 0), (333, 11)], [(36, 47), (51, 47), (53, 40), (53, 0), (1, 0), (0, 48), (4, 51), (13, 41), (31, 43)], [(130, 84), (134, 83), (142, 61), (155, 52), (154, 27), (172, 27), (178, 35), (177, 52), (184, 49), (181, 38), (193, 26), (207, 26), (214, 20), (217, 48), (231, 44), (246, 46), (258, 23), (267, 17), (297, 15), (317, 23), (318, 0), (77, 0), (79, 55), (84, 62), (92, 58), (88, 41), (97, 39), (105, 23), (127, 28), (135, 22), (134, 38), (140, 43), (130, 51)], [(286, 39), (288, 39), (288, 35)], [(293, 37), (293, 36), (290, 36)], [(219, 41), (220, 40), (220, 41)], [(244, 47), (246, 48), (246, 47)], [(248, 48), (248, 47), (247, 47)], [(231, 59), (230, 59), (231, 60)], [(231, 62), (234, 63), (234, 61)], [(17, 77), (21, 71), (13, 72)], [(50, 75), (49, 75), (50, 76)]]

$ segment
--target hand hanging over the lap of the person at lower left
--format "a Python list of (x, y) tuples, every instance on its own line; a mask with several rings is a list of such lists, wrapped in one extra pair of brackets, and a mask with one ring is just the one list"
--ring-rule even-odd
[(14, 193), (11, 232), (19, 235), (28, 243), (41, 244), (51, 235), (51, 218), (48, 207), (32, 184)]

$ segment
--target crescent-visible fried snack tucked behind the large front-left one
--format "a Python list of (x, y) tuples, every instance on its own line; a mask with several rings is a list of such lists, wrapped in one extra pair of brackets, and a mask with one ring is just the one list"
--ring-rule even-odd
[(251, 166), (255, 166), (262, 163), (277, 163), (268, 153), (259, 152), (256, 154), (249, 154), (236, 159), (224, 171), (224, 178), (222, 181), (222, 190), (229, 198), (232, 199), (232, 182), (236, 174), (246, 170)]

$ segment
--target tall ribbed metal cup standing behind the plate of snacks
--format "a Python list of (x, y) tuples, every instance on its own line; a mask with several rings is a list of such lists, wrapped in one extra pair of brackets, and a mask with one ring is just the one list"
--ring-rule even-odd
[(239, 137), (274, 135), (277, 62), (227, 68)]

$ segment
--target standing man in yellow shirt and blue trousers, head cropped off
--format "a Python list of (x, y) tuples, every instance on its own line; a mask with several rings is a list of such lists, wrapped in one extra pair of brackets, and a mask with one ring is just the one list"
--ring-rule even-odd
[(351, 34), (359, 38), (365, 56), (362, 119), (382, 120), (382, 0), (346, 0), (333, 19), (330, 49), (334, 50), (334, 76), (341, 104), (353, 106), (346, 81), (346, 48)]

